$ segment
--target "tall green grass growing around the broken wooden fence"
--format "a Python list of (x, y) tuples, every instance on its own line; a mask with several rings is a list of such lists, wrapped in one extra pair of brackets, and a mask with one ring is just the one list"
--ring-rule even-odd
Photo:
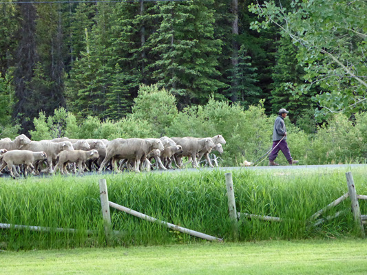
[[(348, 192), (344, 170), (235, 170), (238, 212), (269, 215), (283, 223), (240, 219), (240, 241), (357, 236), (353, 215), (317, 227), (308, 223), (317, 210)], [(349, 169), (350, 170), (350, 169)], [(224, 173), (219, 170), (181, 173), (123, 173), (84, 177), (1, 179), (0, 223), (75, 228), (76, 233), (0, 230), (0, 249), (103, 247), (98, 179), (107, 179), (109, 200), (191, 230), (233, 240)], [(367, 194), (366, 170), (353, 168), (359, 194)], [(359, 201), (367, 214), (365, 201)], [(350, 200), (326, 212), (350, 210)], [(201, 241), (111, 208), (112, 245), (156, 245)], [(88, 233), (87, 230), (95, 230)]]

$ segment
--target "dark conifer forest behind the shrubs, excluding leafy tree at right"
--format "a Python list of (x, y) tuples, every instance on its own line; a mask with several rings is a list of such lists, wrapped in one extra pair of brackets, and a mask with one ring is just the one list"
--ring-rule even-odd
[(297, 48), (275, 27), (251, 30), (258, 20), (251, 3), (0, 4), (2, 130), (19, 124), (19, 133), (29, 133), (40, 111), (59, 107), (79, 120), (118, 120), (131, 113), (141, 84), (170, 91), (178, 110), (211, 96), (244, 110), (264, 99), (266, 113), (291, 109), (292, 122), (308, 124), (317, 85), (301, 98), (286, 89), (305, 82)]

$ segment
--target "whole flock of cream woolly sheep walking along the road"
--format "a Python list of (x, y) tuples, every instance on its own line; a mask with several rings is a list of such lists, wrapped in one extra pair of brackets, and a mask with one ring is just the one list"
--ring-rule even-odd
[[(24, 176), (40, 171), (55, 173), (60, 170), (68, 174), (68, 170), (82, 174), (84, 170), (123, 168), (140, 172), (151, 169), (151, 159), (155, 159), (156, 168), (163, 170), (182, 168), (182, 157), (188, 157), (194, 168), (205, 156), (209, 166), (209, 153), (223, 153), (222, 144), (226, 141), (222, 135), (214, 137), (160, 137), (158, 138), (117, 138), (115, 140), (76, 140), (67, 137), (54, 140), (30, 140), (26, 135), (19, 135), (14, 140), (0, 140), (0, 174), (8, 168), (15, 178), (19, 173)], [(216, 164), (218, 166), (218, 164)]]

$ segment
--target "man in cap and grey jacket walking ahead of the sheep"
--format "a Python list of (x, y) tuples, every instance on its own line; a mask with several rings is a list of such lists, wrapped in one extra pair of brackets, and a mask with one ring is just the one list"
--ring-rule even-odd
[(286, 143), (286, 124), (284, 124), (284, 118), (289, 111), (286, 109), (280, 109), (279, 115), (275, 119), (274, 122), (274, 130), (273, 130), (273, 150), (269, 155), (269, 165), (277, 166), (279, 164), (275, 163), (275, 158), (277, 157), (277, 153), (281, 150), (286, 157), (289, 165), (297, 164), (297, 160), (293, 160), (291, 157), (291, 151), (289, 151), (288, 144)]

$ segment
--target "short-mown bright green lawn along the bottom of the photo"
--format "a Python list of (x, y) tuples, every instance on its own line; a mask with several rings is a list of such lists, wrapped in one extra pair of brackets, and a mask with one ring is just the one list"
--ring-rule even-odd
[(0, 252), (1, 274), (367, 274), (367, 240)]

